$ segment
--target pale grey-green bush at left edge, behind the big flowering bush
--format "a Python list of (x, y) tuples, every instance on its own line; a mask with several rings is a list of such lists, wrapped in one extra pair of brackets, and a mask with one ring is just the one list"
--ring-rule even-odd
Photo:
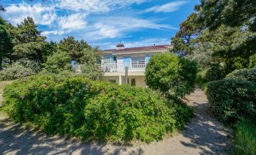
[(0, 81), (10, 81), (17, 78), (28, 77), (35, 74), (31, 69), (24, 68), (23, 65), (11, 65), (10, 68), (0, 71)]

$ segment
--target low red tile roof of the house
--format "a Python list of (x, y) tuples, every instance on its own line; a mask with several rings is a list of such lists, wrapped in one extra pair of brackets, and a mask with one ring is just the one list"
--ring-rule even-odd
[(125, 48), (121, 50), (103, 50), (103, 52), (110, 52), (110, 51), (115, 51), (115, 52), (122, 52), (122, 51), (137, 51), (137, 50), (162, 50), (162, 49), (168, 49), (170, 45), (156, 45), (156, 46), (149, 46), (149, 47), (132, 47), (132, 48)]

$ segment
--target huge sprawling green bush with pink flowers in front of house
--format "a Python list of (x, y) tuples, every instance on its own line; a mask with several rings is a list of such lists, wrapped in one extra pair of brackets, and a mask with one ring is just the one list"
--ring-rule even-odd
[(4, 98), (12, 119), (86, 141), (158, 141), (191, 117), (152, 90), (83, 77), (33, 76), (8, 85)]

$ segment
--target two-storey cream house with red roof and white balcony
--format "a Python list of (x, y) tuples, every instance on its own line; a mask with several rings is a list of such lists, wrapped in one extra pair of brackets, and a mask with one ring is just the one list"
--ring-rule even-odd
[(99, 66), (103, 71), (103, 81), (125, 84), (125, 67), (128, 68), (128, 84), (131, 86), (147, 87), (145, 70), (151, 56), (171, 50), (171, 45), (153, 45), (149, 47), (125, 48), (120, 43), (116, 49), (103, 50)]

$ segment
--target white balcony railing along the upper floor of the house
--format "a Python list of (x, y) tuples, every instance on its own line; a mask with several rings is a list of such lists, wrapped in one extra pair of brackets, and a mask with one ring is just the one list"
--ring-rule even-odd
[[(97, 65), (98, 69), (104, 72), (125, 71), (126, 66), (128, 67), (128, 71), (145, 71), (146, 69), (146, 64), (139, 62), (127, 64), (105, 63)], [(76, 72), (82, 72), (82, 65), (76, 65)]]

